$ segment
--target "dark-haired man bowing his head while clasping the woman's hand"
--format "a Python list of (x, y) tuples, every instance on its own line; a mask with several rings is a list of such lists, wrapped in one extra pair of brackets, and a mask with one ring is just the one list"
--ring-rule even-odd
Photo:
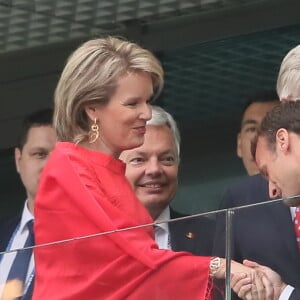
[[(264, 118), (252, 148), (253, 157), (261, 174), (269, 181), (269, 190), (280, 191), (283, 198), (300, 195), (299, 116), (300, 101), (281, 103)], [(272, 233), (273, 243), (281, 238), (279, 236), (281, 233), (286, 235), (281, 240), (282, 251), (274, 253), (274, 250), (277, 251), (279, 246), (276, 245), (274, 249), (273, 244), (271, 244), (269, 253), (274, 259), (273, 263), (280, 260), (279, 264), (287, 264), (286, 266), (282, 265), (283, 270), (278, 271), (274, 268), (281, 278), (269, 268), (259, 266), (257, 263), (245, 262), (246, 265), (260, 269), (267, 275), (273, 284), (275, 299), (280, 296), (279, 299), (282, 300), (300, 299), (300, 201), (299, 198), (296, 198), (292, 202), (294, 203), (289, 200), (289, 205), (298, 205), (296, 210), (292, 210), (294, 223), (292, 224), (290, 215), (287, 216), (286, 220), (282, 220), (281, 224), (275, 221), (272, 223), (273, 226), (276, 226), (274, 233)], [(279, 207), (279, 209), (283, 210), (284, 207)], [(293, 227), (295, 231), (293, 231)], [(265, 229), (261, 228), (261, 230), (264, 231)], [(279, 234), (276, 234), (275, 231), (278, 231)], [(265, 261), (261, 263), (265, 264)], [(295, 266), (292, 266), (293, 264)], [(265, 285), (265, 288), (270, 287)], [(243, 296), (243, 292), (239, 295)]]

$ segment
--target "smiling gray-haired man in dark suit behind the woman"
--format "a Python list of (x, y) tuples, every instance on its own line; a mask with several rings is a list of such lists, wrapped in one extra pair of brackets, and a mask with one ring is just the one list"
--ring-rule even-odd
[[(152, 108), (144, 144), (124, 151), (126, 176), (137, 197), (148, 209), (155, 226), (155, 239), (161, 249), (210, 255), (214, 221), (207, 217), (162, 222), (183, 217), (170, 203), (178, 183), (180, 135), (172, 116), (162, 108)], [(162, 222), (162, 223), (161, 223)]]

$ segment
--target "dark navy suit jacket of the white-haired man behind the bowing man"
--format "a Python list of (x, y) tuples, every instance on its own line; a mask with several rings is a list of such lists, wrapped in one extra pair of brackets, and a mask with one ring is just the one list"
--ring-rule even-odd
[[(248, 176), (230, 187), (221, 208), (267, 201), (268, 183), (261, 175)], [(215, 255), (225, 255), (224, 215), (217, 216)], [(280, 274), (283, 281), (300, 288), (300, 254), (289, 207), (282, 202), (235, 211), (232, 230), (232, 258), (250, 259)], [(300, 298), (299, 298), (300, 299)]]

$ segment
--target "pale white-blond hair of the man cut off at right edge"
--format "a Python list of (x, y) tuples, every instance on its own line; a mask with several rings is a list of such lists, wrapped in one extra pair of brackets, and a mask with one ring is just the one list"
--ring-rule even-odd
[(280, 100), (300, 98), (300, 45), (290, 50), (281, 63), (277, 94)]

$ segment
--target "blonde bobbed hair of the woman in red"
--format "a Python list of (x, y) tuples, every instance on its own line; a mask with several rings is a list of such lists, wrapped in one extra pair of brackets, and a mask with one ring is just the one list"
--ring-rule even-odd
[(88, 138), (86, 105), (107, 103), (126, 73), (151, 75), (154, 97), (163, 88), (163, 69), (157, 58), (139, 45), (115, 37), (93, 39), (68, 59), (54, 96), (54, 127), (60, 141)]

